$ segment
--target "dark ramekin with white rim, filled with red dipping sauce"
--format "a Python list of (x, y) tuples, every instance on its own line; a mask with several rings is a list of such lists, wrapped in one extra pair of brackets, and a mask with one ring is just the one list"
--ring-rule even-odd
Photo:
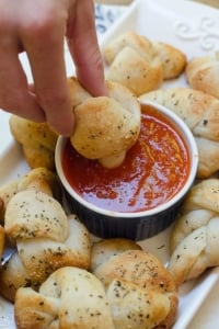
[(70, 212), (101, 238), (142, 240), (168, 228), (194, 183), (198, 150), (186, 124), (171, 110), (141, 102), (141, 128), (124, 162), (106, 169), (59, 137), (57, 173)]

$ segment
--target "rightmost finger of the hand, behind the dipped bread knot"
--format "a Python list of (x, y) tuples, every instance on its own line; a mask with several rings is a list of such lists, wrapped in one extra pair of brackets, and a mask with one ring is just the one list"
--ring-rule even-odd
[(92, 0), (76, 1), (74, 12), (68, 22), (67, 37), (80, 82), (93, 95), (107, 94)]

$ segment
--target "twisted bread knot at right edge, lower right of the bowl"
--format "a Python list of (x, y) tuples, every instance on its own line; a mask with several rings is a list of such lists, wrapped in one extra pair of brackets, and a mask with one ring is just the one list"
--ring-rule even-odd
[(207, 179), (188, 192), (171, 236), (169, 271), (177, 285), (219, 265), (219, 180)]

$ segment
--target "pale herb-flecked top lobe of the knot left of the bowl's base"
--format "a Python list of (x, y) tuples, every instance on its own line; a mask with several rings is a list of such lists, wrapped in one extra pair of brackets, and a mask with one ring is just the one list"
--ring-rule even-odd
[(68, 222), (58, 201), (33, 189), (21, 191), (9, 201), (4, 229), (12, 240), (46, 236), (64, 241), (68, 235)]

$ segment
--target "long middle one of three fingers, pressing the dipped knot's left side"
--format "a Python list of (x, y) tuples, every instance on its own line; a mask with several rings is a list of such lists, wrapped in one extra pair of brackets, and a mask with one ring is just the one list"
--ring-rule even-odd
[(28, 29), (21, 29), (20, 35), (30, 59), (37, 101), (45, 111), (47, 123), (57, 133), (70, 135), (73, 114), (64, 61), (67, 16), (55, 14), (44, 12), (41, 22), (32, 18)]

